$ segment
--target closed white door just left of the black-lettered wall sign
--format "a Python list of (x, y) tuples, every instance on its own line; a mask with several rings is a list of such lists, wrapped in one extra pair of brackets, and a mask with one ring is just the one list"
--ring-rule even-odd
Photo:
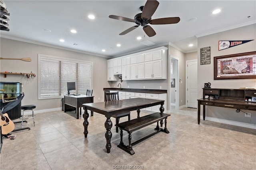
[(197, 60), (187, 61), (187, 107), (197, 108)]

